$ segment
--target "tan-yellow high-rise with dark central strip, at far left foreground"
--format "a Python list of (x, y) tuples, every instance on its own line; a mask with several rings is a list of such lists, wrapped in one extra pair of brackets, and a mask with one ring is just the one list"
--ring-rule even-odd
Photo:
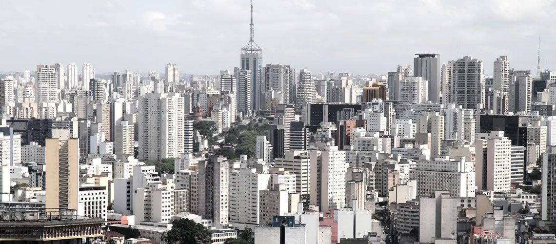
[(46, 139), (46, 208), (78, 209), (79, 140), (54, 130)]

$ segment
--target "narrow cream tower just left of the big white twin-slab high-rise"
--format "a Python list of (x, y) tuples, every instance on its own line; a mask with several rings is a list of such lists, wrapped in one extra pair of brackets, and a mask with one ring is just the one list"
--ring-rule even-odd
[(118, 160), (133, 156), (135, 152), (135, 124), (130, 121), (121, 121), (116, 126), (114, 151)]

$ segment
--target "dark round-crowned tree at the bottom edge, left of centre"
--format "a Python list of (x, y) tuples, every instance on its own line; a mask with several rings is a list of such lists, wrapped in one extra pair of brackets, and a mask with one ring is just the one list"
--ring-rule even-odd
[(211, 233), (200, 223), (181, 218), (172, 222), (172, 229), (168, 231), (166, 241), (179, 244), (209, 244)]

